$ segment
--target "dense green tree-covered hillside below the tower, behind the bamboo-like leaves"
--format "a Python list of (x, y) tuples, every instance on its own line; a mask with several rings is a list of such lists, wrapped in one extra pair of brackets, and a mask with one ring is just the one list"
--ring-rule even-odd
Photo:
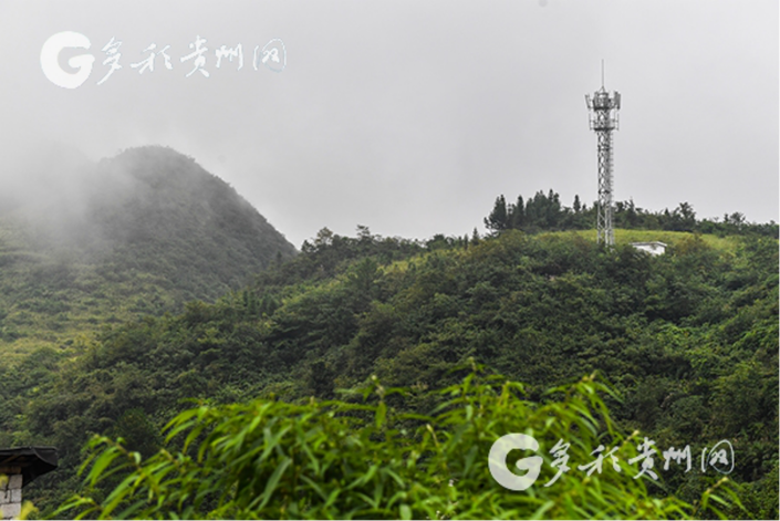
[[(624, 397), (607, 404), (625, 431), (695, 454), (731, 440), (730, 477), (747, 483), (746, 507), (769, 515), (780, 490), (780, 247), (758, 236), (727, 250), (675, 237), (667, 254), (649, 257), (574, 232), (420, 244), (323, 230), (214, 304), (115, 326), (59, 371), (37, 367), (34, 382), (14, 368), (0, 393), (24, 398), (4, 436), (60, 448), (58, 476), (31, 487), (52, 504), (79, 487), (87, 433), (153, 455), (183, 398), (326, 399), (372, 375), (433, 389), (457, 384), (453, 369), (474, 358), (539, 402), (548, 387), (597, 371)], [(53, 353), (35, 356), (59, 364)], [(436, 400), (388, 404), (430, 414)], [(670, 473), (653, 493), (695, 500), (713, 479)]]

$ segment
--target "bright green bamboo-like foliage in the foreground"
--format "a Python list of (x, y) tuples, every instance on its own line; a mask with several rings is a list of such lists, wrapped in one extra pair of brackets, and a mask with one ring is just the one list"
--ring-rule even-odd
[[(637, 433), (616, 429), (602, 399), (612, 390), (594, 376), (531, 402), (522, 384), (475, 367), (426, 392), (439, 404), (430, 415), (403, 413), (419, 393), (373, 379), (343, 400), (200, 405), (167, 425), (170, 448), (146, 460), (95, 437), (82, 467), (87, 493), (52, 519), (726, 519), (724, 508), (739, 507), (727, 479), (697, 504), (648, 492), (627, 463)], [(523, 491), (503, 489), (488, 469), (491, 445), (509, 433), (533, 436), (544, 459)], [(571, 444), (571, 470), (545, 487), (560, 439)], [(606, 458), (601, 473), (576, 468), (599, 445), (620, 446), (620, 472)]]

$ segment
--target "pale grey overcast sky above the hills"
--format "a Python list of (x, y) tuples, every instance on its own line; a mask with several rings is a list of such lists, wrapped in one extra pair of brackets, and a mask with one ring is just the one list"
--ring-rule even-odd
[[(41, 49), (86, 37), (77, 88)], [(205, 39), (206, 77), (194, 69)], [(118, 64), (102, 49), (112, 40)], [(272, 39), (287, 66), (254, 70)], [(155, 43), (157, 56), (139, 74)], [(241, 44), (243, 67), (215, 50)], [(263, 54), (260, 52), (260, 55)], [(780, 2), (0, 0), (2, 154), (56, 140), (92, 159), (147, 144), (193, 156), (297, 247), (322, 227), (425, 239), (485, 231), (499, 194), (596, 199), (584, 96), (622, 95), (615, 199), (780, 221)], [(270, 62), (269, 62), (270, 63)], [(75, 72), (73, 69), (67, 72)], [(3, 171), (0, 181), (10, 173)], [(0, 187), (1, 189), (1, 187)]]

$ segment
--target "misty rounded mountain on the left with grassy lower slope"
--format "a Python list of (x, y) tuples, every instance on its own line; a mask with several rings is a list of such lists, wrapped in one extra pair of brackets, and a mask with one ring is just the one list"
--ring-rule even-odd
[(236, 190), (164, 147), (62, 150), (0, 192), (0, 353), (214, 301), (295, 249)]

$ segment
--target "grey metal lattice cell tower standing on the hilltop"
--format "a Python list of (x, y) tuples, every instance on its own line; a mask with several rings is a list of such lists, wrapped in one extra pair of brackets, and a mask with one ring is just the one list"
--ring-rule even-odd
[(601, 88), (593, 97), (585, 95), (591, 131), (599, 138), (599, 217), (596, 218), (596, 241), (614, 246), (615, 231), (612, 228), (612, 131), (617, 129), (617, 111), (621, 95), (610, 95), (604, 88), (604, 61), (601, 62)]

